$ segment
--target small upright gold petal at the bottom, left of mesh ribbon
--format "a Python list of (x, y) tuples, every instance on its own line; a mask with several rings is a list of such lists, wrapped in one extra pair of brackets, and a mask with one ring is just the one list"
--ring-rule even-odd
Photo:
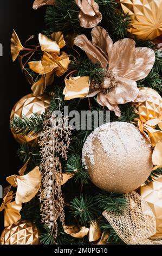
[(102, 232), (99, 223), (97, 221), (91, 222), (88, 235), (89, 242), (98, 241), (101, 238), (101, 235)]

